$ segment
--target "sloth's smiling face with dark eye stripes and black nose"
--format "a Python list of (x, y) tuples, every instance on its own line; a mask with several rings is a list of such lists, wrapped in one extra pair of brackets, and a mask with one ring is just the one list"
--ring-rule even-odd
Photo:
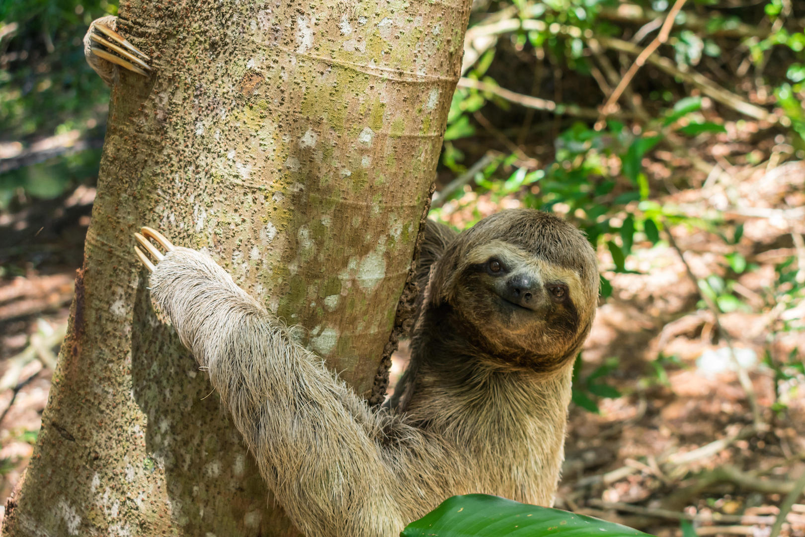
[(572, 268), (502, 240), (474, 247), (463, 261), (456, 311), (474, 339), (502, 361), (553, 369), (574, 348), (580, 330), (586, 332), (590, 297)]

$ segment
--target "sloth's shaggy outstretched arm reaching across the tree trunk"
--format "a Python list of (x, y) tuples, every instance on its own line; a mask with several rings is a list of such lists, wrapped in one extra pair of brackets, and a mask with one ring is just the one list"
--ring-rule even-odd
[(452, 477), (440, 466), (452, 449), (370, 411), (212, 258), (171, 248), (152, 269), (151, 296), (208, 368), (262, 476), (300, 530), (397, 535), (444, 499), (443, 480)]

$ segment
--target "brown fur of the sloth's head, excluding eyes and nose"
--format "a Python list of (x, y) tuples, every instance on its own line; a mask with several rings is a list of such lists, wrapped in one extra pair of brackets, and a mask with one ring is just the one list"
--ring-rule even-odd
[[(506, 275), (484, 271), (490, 259)], [(497, 290), (522, 275), (539, 286), (539, 308), (512, 307)], [(562, 300), (548, 287), (564, 285)], [(502, 211), (461, 233), (432, 270), (427, 304), (447, 304), (473, 342), (512, 366), (551, 372), (575, 357), (595, 315), (599, 276), (595, 252), (578, 229), (530, 209)]]

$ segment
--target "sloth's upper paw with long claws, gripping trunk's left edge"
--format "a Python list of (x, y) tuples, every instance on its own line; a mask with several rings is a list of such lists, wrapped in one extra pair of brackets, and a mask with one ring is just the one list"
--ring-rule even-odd
[(151, 58), (115, 31), (117, 19), (109, 15), (93, 20), (84, 36), (87, 63), (109, 86), (114, 82), (115, 64), (142, 76), (148, 76), (153, 70), (147, 64)]

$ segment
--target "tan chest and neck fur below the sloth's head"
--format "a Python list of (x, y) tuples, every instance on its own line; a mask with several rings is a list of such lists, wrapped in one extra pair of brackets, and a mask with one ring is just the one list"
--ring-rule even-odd
[(481, 371), (453, 385), (422, 373), (408, 415), (462, 455), (456, 494), (550, 506), (564, 459), (571, 369), (540, 382)]

